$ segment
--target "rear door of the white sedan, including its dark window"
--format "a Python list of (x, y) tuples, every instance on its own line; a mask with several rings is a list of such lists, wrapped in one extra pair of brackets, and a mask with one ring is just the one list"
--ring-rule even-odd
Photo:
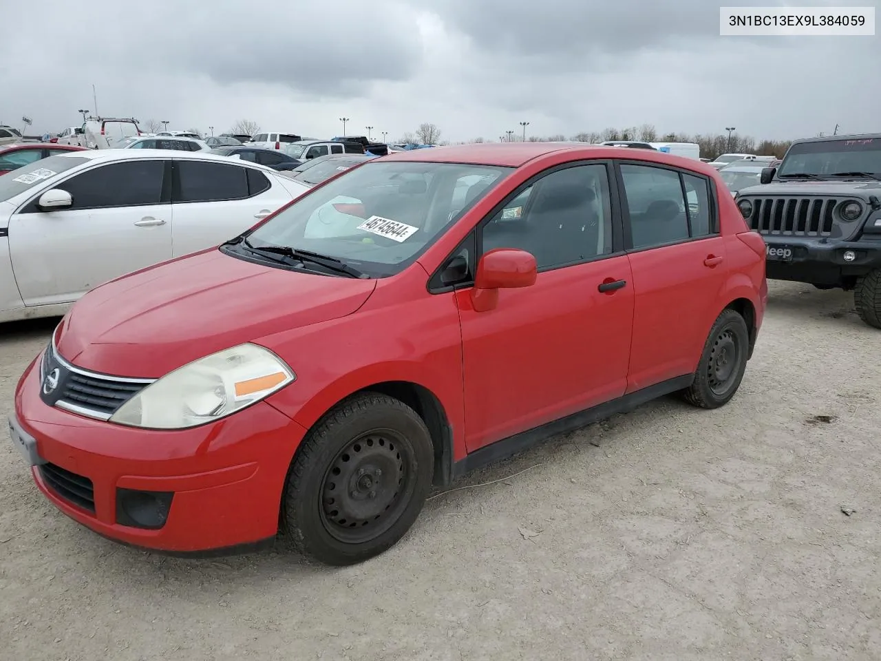
[(174, 256), (217, 246), (266, 218), (292, 195), (255, 167), (174, 160)]

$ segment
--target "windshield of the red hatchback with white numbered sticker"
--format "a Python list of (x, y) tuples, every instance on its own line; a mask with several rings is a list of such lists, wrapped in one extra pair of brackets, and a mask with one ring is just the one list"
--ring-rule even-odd
[[(300, 197), (248, 235), (310, 250), (374, 277), (402, 271), (514, 168), (368, 162)], [(473, 188), (462, 194), (463, 185)]]

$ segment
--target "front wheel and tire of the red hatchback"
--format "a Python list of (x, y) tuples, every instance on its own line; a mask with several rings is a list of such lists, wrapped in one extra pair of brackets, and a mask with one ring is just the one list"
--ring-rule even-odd
[(337, 567), (366, 561), (403, 538), (432, 486), (426, 423), (394, 397), (344, 400), (307, 434), (282, 497), (283, 538)]

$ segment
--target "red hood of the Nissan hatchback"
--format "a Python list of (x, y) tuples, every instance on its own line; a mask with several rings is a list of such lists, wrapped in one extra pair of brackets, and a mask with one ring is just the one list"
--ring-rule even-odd
[(206, 250), (86, 293), (57, 331), (62, 357), (110, 375), (158, 378), (272, 333), (351, 315), (373, 279), (299, 273)]

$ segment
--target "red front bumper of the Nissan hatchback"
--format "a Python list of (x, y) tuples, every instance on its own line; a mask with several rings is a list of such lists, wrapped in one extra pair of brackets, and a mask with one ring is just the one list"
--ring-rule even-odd
[[(175, 553), (248, 545), (277, 533), (287, 469), (306, 430), (269, 404), (169, 432), (66, 412), (44, 404), (39, 389), (34, 360), (19, 381), (13, 421), (36, 441), (36, 485), (78, 523)], [(172, 494), (160, 527), (121, 523), (127, 519), (119, 498), (130, 492)]]

